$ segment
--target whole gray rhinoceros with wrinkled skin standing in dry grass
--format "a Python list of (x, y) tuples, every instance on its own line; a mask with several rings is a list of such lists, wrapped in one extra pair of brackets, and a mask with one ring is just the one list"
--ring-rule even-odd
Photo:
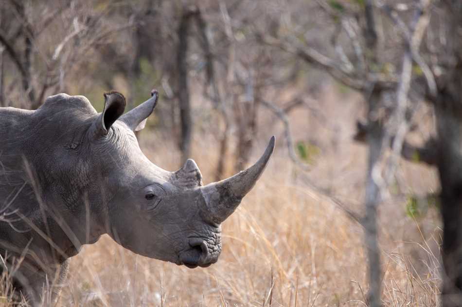
[(13, 278), (33, 305), (47, 301), (44, 286), (58, 291), (67, 259), (105, 233), (146, 257), (190, 268), (217, 261), (220, 224), (262, 174), (274, 137), (249, 169), (203, 186), (193, 160), (169, 172), (143, 155), (134, 131), (151, 96), (124, 115), (117, 92), (105, 94), (103, 113), (66, 94), (36, 111), (0, 108), (0, 254), (9, 272), (24, 256)]

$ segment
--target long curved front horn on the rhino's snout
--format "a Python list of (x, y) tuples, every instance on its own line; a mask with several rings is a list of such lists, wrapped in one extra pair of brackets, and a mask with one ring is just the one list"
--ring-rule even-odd
[(260, 178), (273, 151), (274, 136), (269, 140), (263, 156), (248, 169), (230, 178), (200, 187), (204, 198), (204, 207), (201, 212), (203, 217), (215, 224), (226, 220)]

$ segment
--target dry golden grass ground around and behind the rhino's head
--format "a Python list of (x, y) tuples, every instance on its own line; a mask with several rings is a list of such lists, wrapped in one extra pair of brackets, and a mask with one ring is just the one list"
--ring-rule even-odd
[[(213, 111), (200, 95), (193, 101), (199, 120), (192, 158), (208, 183), (218, 142), (204, 131), (219, 122), (209, 120)], [(191, 270), (135, 255), (103, 236), (71, 259), (58, 306), (367, 306), (362, 228), (313, 188), (362, 211), (367, 150), (353, 135), (363, 104), (354, 93), (327, 85), (312, 105), (314, 110), (290, 113), (308, 172), (288, 159), (281, 123), (266, 110), (260, 113), (251, 162), (272, 134), (275, 153), (255, 188), (224, 222), (223, 252), (216, 264)], [(423, 120), (426, 116), (423, 112)], [(145, 129), (140, 143), (152, 162), (178, 169), (180, 153), (168, 135)], [(230, 151), (226, 175), (232, 172)], [(439, 216), (431, 204), (421, 208), (414, 201), (415, 195), (438, 189), (437, 182), (435, 170), (401, 162), (394, 191), (381, 204), (384, 306), (438, 305)]]

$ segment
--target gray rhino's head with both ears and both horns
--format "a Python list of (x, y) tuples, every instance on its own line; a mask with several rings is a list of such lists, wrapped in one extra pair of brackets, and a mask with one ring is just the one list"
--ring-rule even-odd
[(95, 154), (104, 154), (111, 165), (105, 171), (107, 189), (112, 191), (108, 232), (137, 254), (190, 268), (206, 267), (221, 252), (221, 223), (261, 176), (273, 152), (274, 137), (253, 166), (204, 186), (193, 160), (169, 172), (143, 155), (134, 131), (144, 127), (157, 103), (158, 93), (151, 94), (125, 114), (124, 97), (117, 92), (105, 94), (104, 111), (91, 127)]

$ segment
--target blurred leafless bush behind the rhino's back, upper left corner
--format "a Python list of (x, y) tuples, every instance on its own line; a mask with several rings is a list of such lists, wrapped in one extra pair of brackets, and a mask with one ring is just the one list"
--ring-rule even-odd
[[(133, 20), (122, 24), (104, 23), (111, 6), (102, 12), (91, 10), (89, 3), (59, 2), (53, 9), (44, 8), (46, 3), (9, 0), (1, 3), (7, 20), (0, 27), (0, 45), (11, 60), (11, 68), (18, 72), (21, 88), (28, 101), (25, 107), (36, 109), (47, 91), (63, 90), (68, 72), (88, 58), (87, 53), (104, 44), (108, 37), (131, 28)], [(59, 28), (60, 20), (71, 20), (65, 28)], [(39, 22), (32, 22), (39, 20)], [(42, 46), (41, 39), (49, 32), (54, 35), (51, 43)], [(11, 74), (9, 74), (11, 75)], [(6, 84), (4, 84), (5, 86)], [(9, 84), (16, 88), (16, 82)], [(3, 101), (10, 99), (9, 90)], [(22, 97), (22, 95), (20, 96)], [(5, 103), (5, 102), (4, 102)]]

